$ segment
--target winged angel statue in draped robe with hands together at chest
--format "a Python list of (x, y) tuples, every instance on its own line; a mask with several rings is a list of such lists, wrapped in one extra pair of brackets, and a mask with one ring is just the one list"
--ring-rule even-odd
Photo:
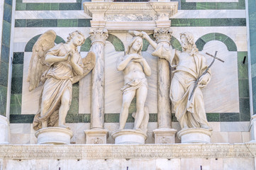
[(43, 83), (38, 113), (33, 120), (35, 130), (52, 126), (67, 128), (65, 118), (72, 101), (72, 84), (95, 65), (94, 52), (82, 58), (77, 50), (85, 40), (78, 30), (69, 34), (66, 43), (55, 45), (55, 38), (55, 31), (48, 30), (33, 46), (28, 69), (29, 91)]

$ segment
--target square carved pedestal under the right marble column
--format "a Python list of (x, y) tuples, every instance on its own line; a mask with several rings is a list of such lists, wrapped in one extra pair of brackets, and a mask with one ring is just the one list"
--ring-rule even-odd
[(160, 128), (153, 130), (155, 144), (174, 144), (176, 132), (177, 130), (170, 128)]

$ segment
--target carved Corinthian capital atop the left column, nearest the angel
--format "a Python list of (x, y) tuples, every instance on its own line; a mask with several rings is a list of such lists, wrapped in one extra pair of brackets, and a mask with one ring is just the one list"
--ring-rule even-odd
[(90, 29), (90, 38), (91, 38), (91, 44), (94, 42), (106, 42), (106, 39), (108, 38), (108, 30), (106, 28), (91, 28)]

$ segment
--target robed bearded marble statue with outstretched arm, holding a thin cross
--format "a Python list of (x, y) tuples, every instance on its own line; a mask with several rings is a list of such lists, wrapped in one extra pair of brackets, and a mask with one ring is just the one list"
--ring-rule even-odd
[[(204, 99), (201, 89), (204, 88), (211, 79), (211, 70), (208, 69), (202, 76), (198, 84), (196, 80), (207, 69), (206, 58), (200, 55), (191, 33), (181, 33), (182, 52), (172, 49), (169, 42), (159, 42), (151, 40), (147, 33), (142, 32), (143, 38), (150, 42), (155, 48), (152, 55), (160, 57), (169, 62), (174, 68), (173, 77), (169, 92), (175, 115), (182, 128), (204, 128), (211, 129), (206, 119)], [(196, 86), (194, 93), (192, 93)], [(189, 99), (190, 98), (190, 99)]]

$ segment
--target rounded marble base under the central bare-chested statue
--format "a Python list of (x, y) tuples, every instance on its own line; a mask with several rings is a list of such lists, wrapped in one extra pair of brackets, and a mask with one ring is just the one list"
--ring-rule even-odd
[(142, 130), (116, 130), (112, 133), (115, 144), (145, 144), (147, 135)]

